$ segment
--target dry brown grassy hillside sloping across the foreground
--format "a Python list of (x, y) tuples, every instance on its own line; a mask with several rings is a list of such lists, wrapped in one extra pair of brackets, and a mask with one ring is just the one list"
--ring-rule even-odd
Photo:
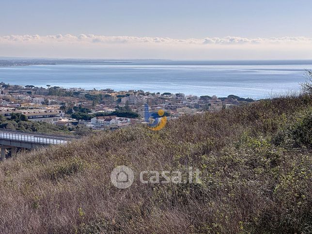
[[(312, 96), (136, 126), (0, 162), (1, 233), (310, 233)], [(131, 187), (110, 183), (119, 165)], [(142, 184), (200, 169), (199, 183)]]

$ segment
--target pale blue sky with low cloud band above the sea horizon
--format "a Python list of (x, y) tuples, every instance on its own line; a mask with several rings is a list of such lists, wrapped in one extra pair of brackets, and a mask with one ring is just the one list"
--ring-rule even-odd
[(0, 0), (0, 56), (312, 59), (311, 0)]

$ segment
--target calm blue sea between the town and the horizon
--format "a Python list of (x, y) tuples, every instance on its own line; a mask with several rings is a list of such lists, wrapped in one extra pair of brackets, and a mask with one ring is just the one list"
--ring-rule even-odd
[(312, 61), (104, 61), (0, 67), (0, 81), (254, 99), (296, 92)]

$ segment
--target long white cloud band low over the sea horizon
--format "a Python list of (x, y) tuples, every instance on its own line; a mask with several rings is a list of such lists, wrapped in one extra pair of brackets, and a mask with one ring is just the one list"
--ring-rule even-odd
[(125, 59), (312, 59), (308, 37), (169, 37), (94, 34), (0, 36), (0, 56)]

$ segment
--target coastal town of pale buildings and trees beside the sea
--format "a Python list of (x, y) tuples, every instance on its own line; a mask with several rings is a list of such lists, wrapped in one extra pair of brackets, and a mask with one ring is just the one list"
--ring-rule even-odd
[[(144, 123), (144, 104), (149, 106), (151, 112), (162, 109), (166, 116), (178, 118), (185, 114), (229, 109), (253, 101), (236, 95), (195, 96), (182, 93), (150, 93), (142, 90), (85, 90), (50, 85), (35, 87), (0, 83), (2, 118), (11, 119), (12, 116), (15, 118), (19, 115), (26, 121), (45, 122), (71, 129), (77, 129), (79, 126), (105, 130)], [(2, 124), (1, 128), (14, 127)]]

